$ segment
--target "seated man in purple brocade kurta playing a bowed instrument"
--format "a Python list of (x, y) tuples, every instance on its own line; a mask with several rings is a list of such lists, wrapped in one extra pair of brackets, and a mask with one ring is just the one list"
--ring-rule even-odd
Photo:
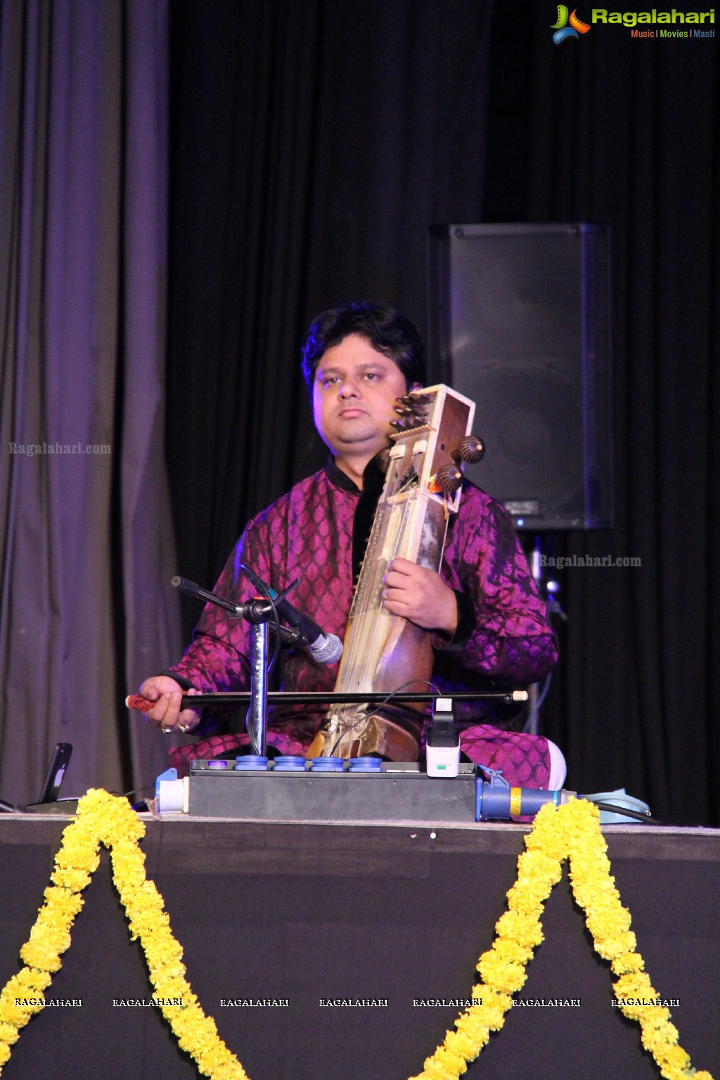
[[(425, 382), (415, 326), (376, 303), (343, 305), (310, 327), (303, 374), (315, 427), (330, 450), (327, 465), (255, 517), (226, 565), (215, 591), (242, 603), (255, 594), (240, 564), (281, 591), (300, 578), (294, 606), (328, 634), (344, 636), (353, 583), (363, 559), (382, 474), (376, 456), (390, 444), (397, 399)], [(468, 482), (448, 522), (439, 573), (393, 558), (383, 578), (382, 605), (432, 635), (432, 680), (443, 693), (517, 688), (535, 683), (557, 659), (545, 606), (504, 509)], [(172, 760), (216, 757), (247, 745), (244, 733), (214, 734), (218, 710), (181, 708), (182, 693), (247, 689), (249, 626), (207, 606), (182, 660), (147, 679), (140, 694), (154, 704), (148, 720), (163, 731), (202, 734), (201, 744), (175, 747)], [(322, 665), (301, 649), (284, 656), (283, 689), (332, 690), (337, 664)], [(465, 711), (461, 750), (502, 768), (512, 784), (561, 786), (562, 756), (541, 737), (499, 730), (485, 706)], [(303, 754), (324, 713), (276, 706), (268, 746)], [(457, 710), (456, 715), (463, 717)], [(552, 766), (555, 772), (551, 778)]]

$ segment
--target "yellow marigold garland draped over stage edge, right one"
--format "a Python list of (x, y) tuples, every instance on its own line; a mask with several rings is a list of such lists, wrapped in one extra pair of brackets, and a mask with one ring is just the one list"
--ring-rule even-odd
[(707, 1071), (696, 1072), (689, 1055), (678, 1045), (678, 1030), (670, 1023), (669, 1010), (626, 1003), (629, 998), (647, 1001), (660, 995), (643, 970), (642, 957), (636, 953), (630, 913), (621, 904), (610, 874), (597, 807), (585, 799), (571, 799), (557, 810), (552, 804), (545, 805), (525, 845), (527, 850), (518, 859), (517, 881), (507, 893), (507, 910), (495, 924), (498, 936), (477, 964), (483, 981), (473, 987), (472, 996), (481, 999), (483, 1004), (460, 1014), (456, 1030), (447, 1032), (443, 1045), (411, 1080), (458, 1080), (486, 1045), (490, 1031), (503, 1026), (513, 1004), (511, 995), (525, 985), (525, 967), (543, 940), (540, 920), (545, 901), (560, 880), (568, 858), (572, 892), (585, 912), (596, 951), (611, 961), (612, 972), (619, 976), (613, 984), (619, 1007), (640, 1024), (642, 1045), (654, 1057), (661, 1076), (665, 1080), (712, 1080)]

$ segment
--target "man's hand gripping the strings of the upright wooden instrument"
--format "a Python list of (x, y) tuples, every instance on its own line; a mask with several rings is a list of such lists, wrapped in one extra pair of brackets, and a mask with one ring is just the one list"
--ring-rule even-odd
[(394, 558), (388, 565), (383, 584), (382, 604), (391, 615), (409, 619), (423, 630), (454, 634), (458, 602), (439, 573), (407, 558)]

